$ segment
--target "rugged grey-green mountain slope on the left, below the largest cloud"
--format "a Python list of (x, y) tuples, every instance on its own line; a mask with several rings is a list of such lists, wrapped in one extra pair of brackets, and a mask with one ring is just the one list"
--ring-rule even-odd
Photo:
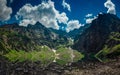
[(40, 23), (27, 27), (17, 24), (3, 25), (0, 27), (0, 50), (36, 50), (38, 46), (47, 45), (55, 48), (60, 44), (68, 43), (66, 37), (62, 37), (44, 27)]

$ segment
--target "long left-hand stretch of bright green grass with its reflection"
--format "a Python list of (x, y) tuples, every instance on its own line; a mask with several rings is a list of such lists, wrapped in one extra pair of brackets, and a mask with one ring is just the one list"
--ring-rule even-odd
[(11, 50), (4, 56), (8, 58), (8, 60), (11, 62), (40, 61), (42, 64), (46, 65), (48, 65), (54, 60), (54, 53), (46, 46), (43, 46), (43, 49), (41, 51), (25, 52), (23, 50)]

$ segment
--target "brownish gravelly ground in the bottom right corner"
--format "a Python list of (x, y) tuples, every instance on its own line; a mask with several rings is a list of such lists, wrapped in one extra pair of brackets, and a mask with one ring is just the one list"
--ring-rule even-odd
[(120, 75), (120, 60), (109, 63), (88, 63), (63, 75)]

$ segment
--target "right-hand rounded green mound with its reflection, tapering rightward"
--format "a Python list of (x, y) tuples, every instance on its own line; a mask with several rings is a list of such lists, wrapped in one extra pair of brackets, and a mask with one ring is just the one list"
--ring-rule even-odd
[(59, 54), (57, 63), (60, 65), (77, 62), (78, 60), (84, 58), (84, 55), (80, 52), (65, 47), (59, 48), (56, 53)]

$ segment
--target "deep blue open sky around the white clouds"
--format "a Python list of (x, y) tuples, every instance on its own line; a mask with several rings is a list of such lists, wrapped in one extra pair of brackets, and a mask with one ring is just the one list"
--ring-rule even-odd
[[(107, 8), (104, 7), (106, 0), (66, 0), (71, 6), (71, 12), (68, 12), (62, 7), (62, 0), (52, 0), (55, 2), (55, 8), (60, 12), (65, 11), (67, 16), (71, 19), (78, 19), (81, 22), (85, 22), (84, 18), (86, 14), (97, 15), (99, 12), (107, 12)], [(120, 0), (112, 0), (116, 5), (117, 15), (120, 17)], [(14, 0), (13, 3), (9, 4), (13, 9), (13, 15), (26, 3), (32, 5), (38, 5), (41, 0)]]

